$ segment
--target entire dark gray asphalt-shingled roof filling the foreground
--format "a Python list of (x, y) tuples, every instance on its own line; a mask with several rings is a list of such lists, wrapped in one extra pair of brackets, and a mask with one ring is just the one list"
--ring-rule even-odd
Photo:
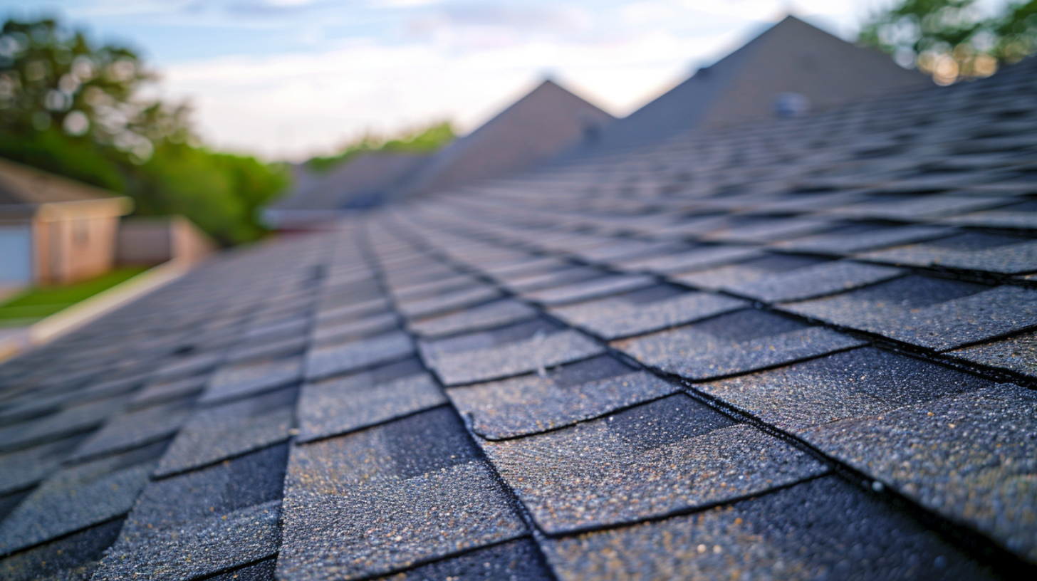
[(225, 253), (0, 366), (0, 575), (1033, 579), (1035, 92)]

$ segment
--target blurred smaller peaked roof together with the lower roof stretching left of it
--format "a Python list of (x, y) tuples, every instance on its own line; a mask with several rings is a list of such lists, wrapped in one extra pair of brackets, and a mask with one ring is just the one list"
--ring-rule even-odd
[(366, 154), (325, 176), (296, 171), (296, 193), (264, 212), (277, 227), (323, 222), (419, 193), (501, 177), (542, 163), (613, 117), (553, 81), (432, 156)]

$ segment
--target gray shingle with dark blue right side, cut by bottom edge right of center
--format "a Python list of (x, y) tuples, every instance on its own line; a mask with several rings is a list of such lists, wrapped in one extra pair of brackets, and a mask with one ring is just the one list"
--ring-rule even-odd
[(935, 532), (834, 476), (541, 547), (563, 581), (997, 578)]

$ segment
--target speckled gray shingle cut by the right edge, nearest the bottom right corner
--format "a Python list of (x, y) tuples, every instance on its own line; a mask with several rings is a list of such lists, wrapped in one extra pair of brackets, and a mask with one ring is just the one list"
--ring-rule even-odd
[(1037, 563), (1037, 394), (999, 385), (802, 437)]

